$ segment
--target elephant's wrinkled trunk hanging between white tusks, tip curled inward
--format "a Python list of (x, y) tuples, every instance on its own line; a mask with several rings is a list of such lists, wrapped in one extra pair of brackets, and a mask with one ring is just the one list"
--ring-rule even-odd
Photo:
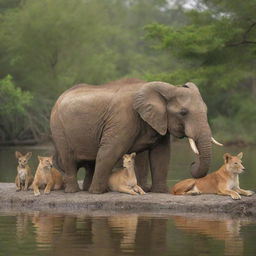
[(194, 178), (204, 177), (211, 163), (212, 142), (210, 128), (207, 132), (202, 131), (196, 139), (196, 146), (199, 154), (196, 154), (196, 160), (191, 164), (190, 172)]

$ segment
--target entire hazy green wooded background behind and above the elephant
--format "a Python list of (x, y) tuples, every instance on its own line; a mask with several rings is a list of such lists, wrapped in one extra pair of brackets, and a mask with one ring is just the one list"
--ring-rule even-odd
[(216, 139), (256, 142), (256, 0), (0, 0), (0, 144), (48, 139), (57, 97), (193, 81)]

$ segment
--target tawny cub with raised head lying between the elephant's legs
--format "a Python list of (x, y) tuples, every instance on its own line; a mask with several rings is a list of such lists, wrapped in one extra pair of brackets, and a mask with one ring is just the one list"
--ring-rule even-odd
[(128, 193), (131, 195), (146, 194), (137, 185), (137, 178), (134, 170), (136, 153), (123, 156), (123, 167), (121, 170), (113, 172), (109, 178), (108, 186), (111, 191)]

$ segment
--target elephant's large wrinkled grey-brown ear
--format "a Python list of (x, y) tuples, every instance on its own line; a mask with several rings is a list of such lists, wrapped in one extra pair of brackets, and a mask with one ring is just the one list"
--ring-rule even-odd
[[(169, 84), (168, 86), (171, 87)], [(135, 95), (133, 102), (133, 108), (140, 117), (161, 135), (167, 132), (166, 97), (168, 92), (165, 87), (166, 83), (147, 83)]]

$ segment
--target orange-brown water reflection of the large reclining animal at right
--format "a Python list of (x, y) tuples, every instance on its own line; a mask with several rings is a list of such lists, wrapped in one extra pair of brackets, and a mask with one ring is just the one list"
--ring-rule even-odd
[[(207, 220), (182, 216), (175, 216), (173, 219), (178, 229), (224, 241), (224, 255), (243, 255), (244, 243), (240, 236), (240, 229), (242, 225), (248, 224), (248, 221), (240, 219)], [(202, 248), (206, 246), (205, 242), (203, 243), (200, 245)]]

